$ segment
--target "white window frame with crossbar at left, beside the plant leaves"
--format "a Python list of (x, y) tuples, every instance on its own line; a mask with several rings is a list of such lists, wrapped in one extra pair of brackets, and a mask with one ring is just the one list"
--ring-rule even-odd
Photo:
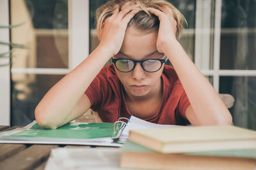
[[(9, 25), (9, 6), (10, 1), (0, 1), (0, 25)], [(10, 125), (11, 117), (11, 92), (10, 92), (10, 73), (26, 74), (67, 74), (89, 54), (89, 1), (68, 0), (68, 68), (10, 68), (10, 66), (0, 67), (1, 89), (0, 106), (1, 119), (0, 125)], [(83, 22), (82, 22), (83, 21)], [(1, 41), (10, 41), (9, 30), (0, 29)], [(4, 35), (4, 36), (3, 36)], [(0, 46), (0, 52), (6, 52), (9, 46)], [(10, 59), (9, 59), (10, 60)], [(2, 59), (0, 60), (0, 63)], [(6, 60), (4, 60), (6, 62)], [(7, 60), (8, 62), (8, 60)], [(8, 73), (8, 74), (7, 74)], [(3, 91), (3, 92), (2, 92)], [(3, 94), (3, 95), (2, 95)]]

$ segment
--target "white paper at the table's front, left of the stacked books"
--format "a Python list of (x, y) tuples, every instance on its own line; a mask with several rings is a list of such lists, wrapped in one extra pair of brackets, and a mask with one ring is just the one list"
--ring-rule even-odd
[(120, 156), (120, 148), (54, 148), (45, 170), (121, 169)]

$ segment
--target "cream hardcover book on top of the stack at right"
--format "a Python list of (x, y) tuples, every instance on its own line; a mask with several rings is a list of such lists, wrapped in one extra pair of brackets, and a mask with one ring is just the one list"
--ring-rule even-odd
[(137, 129), (129, 140), (161, 153), (256, 148), (256, 132), (233, 125)]

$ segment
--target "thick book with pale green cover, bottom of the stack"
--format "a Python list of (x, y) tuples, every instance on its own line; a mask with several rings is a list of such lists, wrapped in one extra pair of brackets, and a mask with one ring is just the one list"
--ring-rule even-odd
[(120, 166), (143, 169), (254, 170), (256, 149), (159, 153), (127, 141), (121, 148)]

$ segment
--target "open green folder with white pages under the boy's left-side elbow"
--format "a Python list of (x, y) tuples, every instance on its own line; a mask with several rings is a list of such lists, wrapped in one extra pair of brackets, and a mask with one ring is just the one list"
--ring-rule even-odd
[[(70, 122), (58, 129), (42, 129), (35, 121), (26, 127), (0, 133), (0, 143), (57, 143), (72, 145), (120, 146), (113, 123)], [(100, 143), (102, 145), (100, 145)]]

